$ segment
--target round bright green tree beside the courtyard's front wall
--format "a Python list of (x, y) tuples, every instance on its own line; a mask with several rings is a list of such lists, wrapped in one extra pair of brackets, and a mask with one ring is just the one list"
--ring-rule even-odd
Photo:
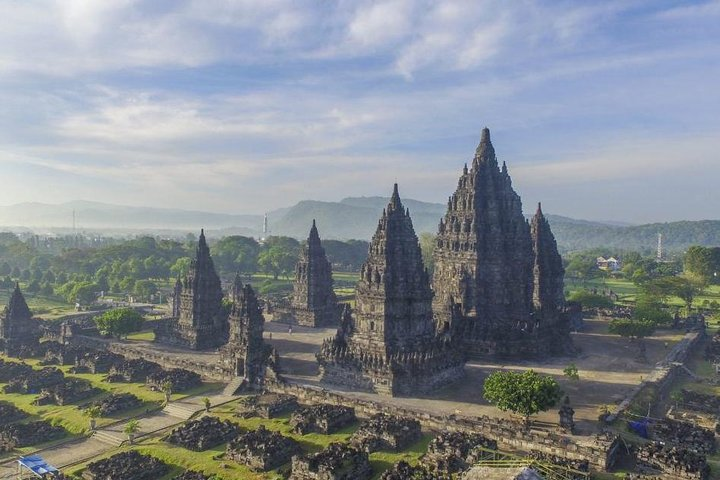
[(555, 406), (562, 390), (555, 379), (534, 370), (499, 371), (485, 379), (483, 396), (498, 409), (521, 415), (527, 423), (531, 415)]

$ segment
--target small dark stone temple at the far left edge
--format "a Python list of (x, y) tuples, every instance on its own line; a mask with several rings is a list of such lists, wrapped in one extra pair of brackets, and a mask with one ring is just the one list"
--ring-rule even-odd
[(0, 350), (6, 355), (17, 357), (33, 352), (40, 344), (39, 322), (32, 318), (32, 312), (15, 284), (10, 300), (0, 315)]

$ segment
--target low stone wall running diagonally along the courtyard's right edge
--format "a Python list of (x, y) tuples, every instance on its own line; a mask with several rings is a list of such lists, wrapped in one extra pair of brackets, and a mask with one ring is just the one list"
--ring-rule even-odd
[(698, 348), (704, 338), (705, 330), (686, 333), (665, 358), (655, 365), (650, 375), (628, 392), (615, 411), (606, 417), (605, 421), (607, 423), (614, 422), (630, 408), (636, 398), (641, 397), (648, 391), (654, 390), (660, 398), (663, 398), (678, 375), (681, 375), (686, 370), (685, 361), (690, 353)]

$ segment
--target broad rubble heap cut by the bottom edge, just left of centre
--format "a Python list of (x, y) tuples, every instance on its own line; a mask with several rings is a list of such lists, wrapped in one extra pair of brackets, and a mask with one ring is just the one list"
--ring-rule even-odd
[(290, 480), (370, 480), (368, 454), (342, 443), (331, 443), (320, 452), (296, 455)]

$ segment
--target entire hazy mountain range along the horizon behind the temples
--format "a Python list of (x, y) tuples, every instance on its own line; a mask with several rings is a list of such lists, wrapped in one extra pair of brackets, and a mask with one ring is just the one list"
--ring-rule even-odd
[[(339, 202), (304, 200), (292, 207), (268, 212), (271, 235), (305, 239), (313, 219), (323, 238), (368, 240), (375, 232), (387, 197), (351, 197)], [(435, 233), (446, 206), (403, 199), (410, 209), (415, 230)], [(0, 225), (14, 230), (48, 229), (67, 233), (75, 211), (78, 229), (105, 234), (150, 233), (182, 235), (204, 227), (210, 236), (262, 235), (262, 215), (230, 215), (171, 208), (128, 207), (99, 202), (68, 202), (59, 205), (20, 203), (0, 206)], [(720, 245), (720, 220), (624, 225), (547, 215), (562, 251), (595, 247), (651, 250), (657, 234), (663, 234), (667, 250), (690, 245)]]

